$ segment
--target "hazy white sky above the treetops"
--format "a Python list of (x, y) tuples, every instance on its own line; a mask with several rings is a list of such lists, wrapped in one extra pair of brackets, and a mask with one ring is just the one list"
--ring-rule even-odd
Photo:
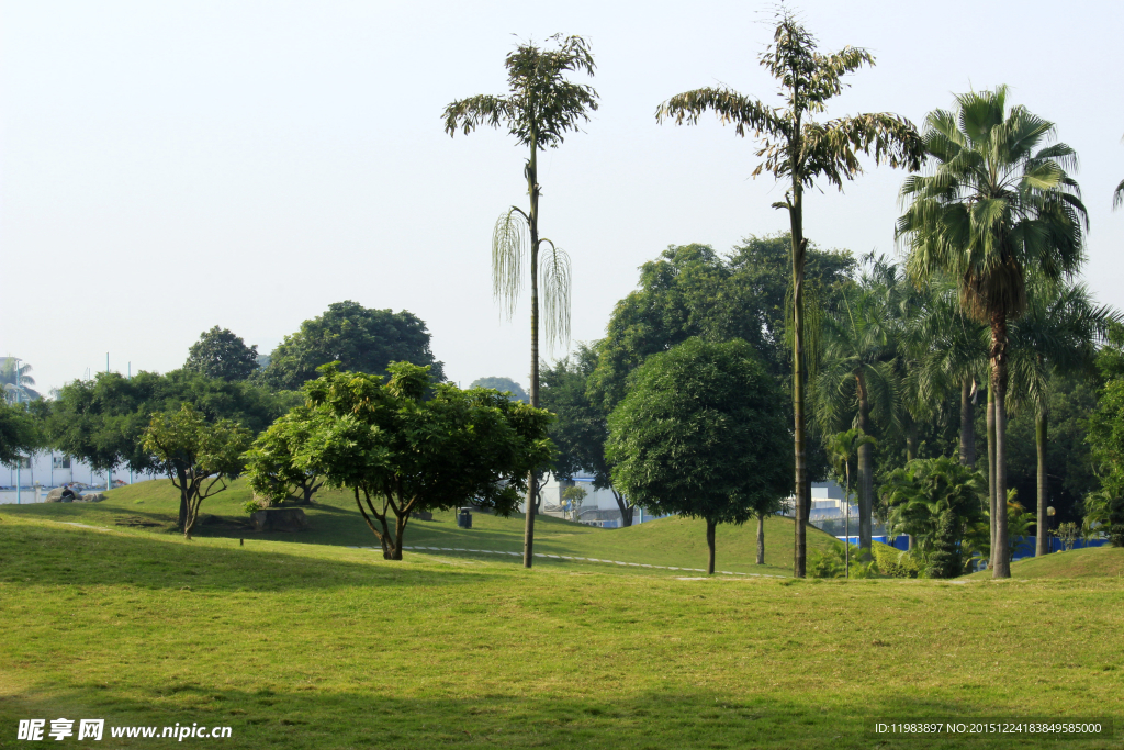
[[(517, 38), (592, 45), (601, 109), (542, 160), (542, 226), (573, 259), (573, 333), (602, 335), (636, 268), (669, 244), (727, 250), (783, 229), (782, 188), (711, 119), (655, 124), (669, 96), (725, 83), (769, 98), (753, 2), (317, 0), (0, 3), (0, 354), (40, 390), (87, 368), (166, 371), (214, 325), (268, 352), (329, 302), (406, 308), (453, 380), (526, 385), (527, 306), (499, 316), (496, 217), (525, 202), (501, 132), (451, 139), (453, 99), (505, 90)], [(1124, 306), (1124, 98), (1115, 2), (805, 0), (825, 49), (865, 46), (830, 115), (919, 123), (954, 92), (1012, 87), (1081, 156), (1087, 277)], [(934, 8), (940, 10), (934, 12)], [(517, 35), (517, 36), (513, 36)], [(809, 237), (892, 253), (904, 174), (815, 193)], [(560, 353), (560, 352), (559, 352)]]

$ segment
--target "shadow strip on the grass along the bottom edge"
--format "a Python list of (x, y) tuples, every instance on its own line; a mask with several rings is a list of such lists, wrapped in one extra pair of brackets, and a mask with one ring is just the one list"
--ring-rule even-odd
[[(196, 679), (160, 686), (87, 684), (58, 686), (49, 698), (35, 692), (0, 706), (0, 747), (15, 737), (19, 719), (57, 716), (106, 720), (102, 743), (91, 747), (183, 747), (175, 740), (112, 740), (110, 726), (230, 726), (228, 748), (694, 748), (878, 747), (903, 750), (1042, 747), (1027, 739), (925, 738), (885, 740), (871, 733), (876, 721), (964, 720), (1019, 715), (1016, 706), (980, 701), (966, 713), (962, 702), (851, 692), (794, 699), (768, 690), (733, 697), (686, 686), (669, 686), (618, 697), (586, 690), (525, 695), (516, 690), (464, 697), (393, 697), (378, 678), (346, 692), (316, 683), (283, 685), (262, 679), (251, 689), (224, 684), (220, 665), (200, 666)], [(889, 688), (887, 688), (889, 689)], [(389, 695), (389, 697), (388, 697)], [(1090, 711), (1089, 714), (1095, 714)], [(48, 723), (49, 726), (49, 723)], [(160, 730), (157, 730), (158, 738)], [(198, 740), (194, 740), (198, 742)], [(1053, 747), (1053, 742), (1049, 742)], [(1111, 739), (1070, 741), (1067, 750), (1117, 747)]]

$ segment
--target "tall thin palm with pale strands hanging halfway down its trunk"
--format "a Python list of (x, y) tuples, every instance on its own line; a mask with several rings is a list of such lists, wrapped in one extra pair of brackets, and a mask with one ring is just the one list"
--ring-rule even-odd
[[(568, 341), (570, 337), (570, 257), (546, 237), (538, 234), (538, 152), (556, 148), (566, 133), (589, 121), (597, 109), (597, 91), (583, 83), (568, 81), (565, 75), (583, 71), (593, 75), (593, 55), (580, 36), (552, 36), (555, 48), (544, 49), (526, 43), (504, 60), (507, 67), (508, 94), (480, 94), (460, 99), (445, 108), (445, 130), (453, 136), (465, 135), (481, 125), (506, 127), (508, 133), (531, 151), (524, 168), (531, 205), (525, 211), (511, 206), (496, 223), (492, 234), (492, 292), (507, 308), (508, 317), (523, 287), (523, 263), (531, 255), (531, 405), (538, 406), (538, 281), (542, 272), (543, 311), (546, 340)], [(529, 234), (529, 242), (527, 235)], [(540, 257), (540, 249), (550, 246), (550, 254)], [(543, 266), (540, 269), (540, 261)], [(534, 561), (535, 498), (537, 477), (531, 473), (527, 484), (527, 517), (523, 540), (523, 564)]]

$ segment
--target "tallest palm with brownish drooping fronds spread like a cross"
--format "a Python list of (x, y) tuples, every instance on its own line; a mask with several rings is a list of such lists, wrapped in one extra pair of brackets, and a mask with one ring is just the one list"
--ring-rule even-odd
[(816, 38), (788, 9), (780, 9), (773, 42), (759, 57), (761, 65), (780, 83), (781, 107), (772, 107), (755, 97), (725, 88), (687, 91), (660, 105), (658, 121), (695, 124), (705, 111), (714, 111), (723, 123), (734, 125), (740, 136), (752, 134), (761, 141), (758, 151), (764, 161), (753, 171), (756, 177), (770, 172), (785, 180), (789, 189), (785, 200), (773, 208), (788, 211), (791, 227), (791, 319), (792, 329), (792, 410), (796, 454), (796, 539), (794, 575), (803, 578), (807, 557), (805, 526), (807, 497), (810, 493), (806, 454), (805, 388), (805, 289), (804, 266), (807, 240), (804, 236), (804, 190), (825, 180), (840, 190), (845, 180), (862, 171), (859, 154), (869, 154), (876, 163), (917, 169), (923, 157), (921, 138), (909, 120), (888, 112), (855, 115), (827, 121), (814, 117), (826, 110), (827, 101), (846, 85), (843, 76), (874, 57), (860, 47), (824, 54)]

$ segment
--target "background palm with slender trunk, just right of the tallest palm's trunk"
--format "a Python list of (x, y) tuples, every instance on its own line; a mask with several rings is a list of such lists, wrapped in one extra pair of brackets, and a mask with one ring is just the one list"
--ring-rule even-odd
[[(823, 319), (823, 364), (816, 376), (816, 407), (825, 432), (851, 425), (870, 434), (872, 417), (897, 426), (896, 343), (892, 322), (869, 287), (843, 295), (843, 309)], [(869, 559), (873, 531), (873, 444), (856, 446), (859, 458), (859, 549)]]

